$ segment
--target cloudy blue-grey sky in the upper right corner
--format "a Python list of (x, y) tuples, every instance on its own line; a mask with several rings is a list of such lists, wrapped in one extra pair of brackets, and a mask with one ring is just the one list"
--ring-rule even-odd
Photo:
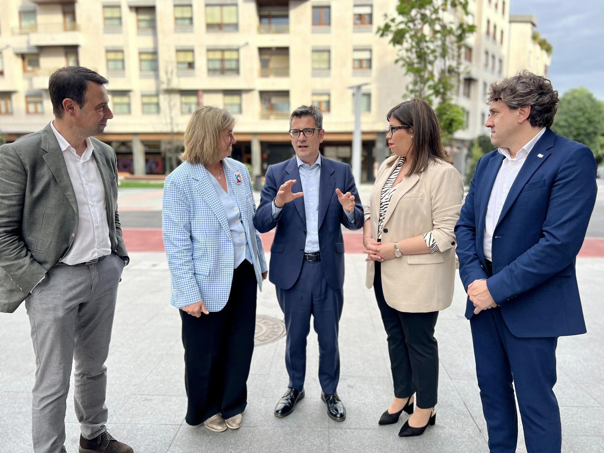
[(585, 86), (604, 100), (604, 0), (510, 0), (510, 14), (533, 14), (553, 47), (548, 71), (560, 94)]

